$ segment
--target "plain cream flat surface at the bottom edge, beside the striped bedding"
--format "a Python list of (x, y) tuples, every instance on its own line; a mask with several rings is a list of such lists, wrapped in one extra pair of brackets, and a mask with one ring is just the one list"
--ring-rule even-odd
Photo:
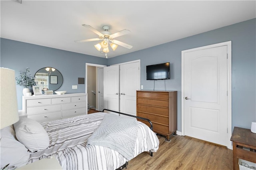
[(45, 158), (19, 167), (16, 170), (62, 170), (58, 160), (55, 157)]

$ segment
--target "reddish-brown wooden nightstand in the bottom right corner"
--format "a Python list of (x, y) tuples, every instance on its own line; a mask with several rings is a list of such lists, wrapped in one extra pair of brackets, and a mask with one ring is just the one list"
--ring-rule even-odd
[(250, 129), (234, 127), (230, 140), (233, 142), (234, 170), (239, 170), (238, 158), (256, 163), (256, 133)]

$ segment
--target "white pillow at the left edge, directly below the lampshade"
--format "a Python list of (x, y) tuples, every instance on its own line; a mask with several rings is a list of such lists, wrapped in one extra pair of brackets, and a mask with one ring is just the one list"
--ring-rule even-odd
[[(16, 137), (14, 129), (11, 126), (1, 129), (1, 167), (8, 165), (8, 168), (24, 166), (28, 163), (30, 152), (20, 143)], [(1, 169), (2, 169), (1, 168)], [(6, 168), (6, 169), (8, 169)]]

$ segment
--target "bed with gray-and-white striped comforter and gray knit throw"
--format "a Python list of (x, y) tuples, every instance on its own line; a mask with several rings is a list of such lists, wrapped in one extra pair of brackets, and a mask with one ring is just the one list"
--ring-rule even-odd
[[(104, 136), (99, 133), (99, 129), (106, 130), (105, 127), (102, 127), (103, 124), (108, 123), (106, 118), (108, 117), (109, 120), (116, 120), (119, 125), (118, 128), (116, 124), (110, 123), (112, 125), (107, 125), (107, 127), (111, 127), (111, 130), (117, 130), (118, 135), (114, 134), (115, 137), (110, 137), (108, 135)], [(158, 150), (159, 146), (159, 140), (156, 136), (156, 134), (144, 123), (140, 121), (136, 121), (136, 136), (133, 139), (134, 140), (134, 150), (130, 150), (129, 146), (128, 148), (123, 148), (121, 146), (118, 148), (118, 144), (116, 144), (116, 139), (118, 140), (126, 140), (125, 136), (129, 137), (134, 134), (131, 134), (130, 131), (128, 132), (120, 132), (120, 129), (123, 129), (120, 127), (120, 123), (124, 126), (128, 122), (128, 118), (124, 118), (124, 122), (120, 121), (120, 117), (116, 119), (113, 115), (109, 113), (99, 112), (99, 113), (92, 113), (89, 115), (83, 115), (78, 117), (73, 117), (69, 119), (63, 119), (58, 121), (51, 121), (48, 123), (41, 123), (44, 131), (46, 131), (47, 136), (49, 138), (48, 140), (48, 146), (47, 148), (37, 148), (41, 145), (43, 145), (44, 140), (39, 141), (38, 143), (42, 142), (42, 144), (35, 144), (37, 145), (35, 148), (30, 149), (29, 152), (29, 158), (27, 160), (27, 163), (32, 163), (40, 159), (49, 158), (51, 156), (54, 156), (59, 161), (60, 165), (63, 169), (70, 169), (70, 170), (76, 170), (76, 169), (84, 169), (84, 170), (94, 170), (94, 169), (106, 169), (106, 170), (115, 170), (118, 168), (123, 168), (128, 164), (128, 161), (132, 158), (136, 157), (138, 154), (142, 152), (150, 152), (152, 156), (152, 152), (156, 152)], [(28, 123), (26, 123), (28, 125)], [(24, 123), (23, 123), (24, 125)], [(34, 125), (33, 125), (34, 127)], [(130, 125), (127, 125), (126, 127), (130, 128)], [(132, 126), (131, 126), (132, 127)], [(20, 127), (17, 127), (14, 124), (15, 132), (16, 130), (20, 129)], [(34, 129), (34, 128), (32, 128)], [(38, 130), (37, 130), (38, 131)], [(102, 130), (100, 130), (101, 132)], [(132, 131), (134, 131), (132, 129)], [(99, 133), (100, 136), (104, 136), (103, 138), (99, 139), (96, 134)], [(2, 134), (1, 134), (2, 136)], [(18, 134), (16, 132), (16, 137), (18, 138)], [(21, 134), (20, 136), (23, 137), (23, 140), (25, 142), (28, 140), (31, 142), (34, 142), (34, 138), (41, 138), (43, 136), (42, 134), (39, 134), (37, 137), (33, 136), (31, 140), (28, 138), (30, 136), (26, 136), (24, 134)], [(92, 139), (93, 136), (96, 136), (96, 138)], [(121, 137), (120, 137), (121, 136)], [(124, 136), (124, 138), (122, 138)], [(109, 146), (109, 138), (114, 138), (114, 147), (106, 147)], [(130, 137), (132, 138), (132, 137)], [(19, 139), (19, 138), (18, 138)], [(132, 140), (132, 139), (129, 139)], [(21, 140), (22, 141), (22, 140)], [(94, 145), (94, 142), (96, 143), (98, 141), (103, 141), (103, 143), (108, 143), (106, 146), (98, 146)], [(88, 144), (91, 142), (92, 144)], [(24, 142), (21, 142), (24, 143)], [(46, 141), (47, 143), (47, 141)], [(128, 142), (131, 143), (131, 142)], [(111, 145), (111, 144), (110, 144)], [(111, 146), (112, 146), (111, 145)], [(116, 150), (116, 147), (119, 149)], [(26, 148), (28, 148), (26, 146)], [(2, 146), (1, 146), (2, 149)], [(34, 151), (34, 152), (31, 152)], [(121, 153), (122, 154), (121, 154)], [(2, 153), (1, 153), (2, 154)], [(25, 159), (26, 160), (26, 159)], [(2, 161), (2, 156), (1, 156)], [(2, 166), (2, 163), (1, 163)]]

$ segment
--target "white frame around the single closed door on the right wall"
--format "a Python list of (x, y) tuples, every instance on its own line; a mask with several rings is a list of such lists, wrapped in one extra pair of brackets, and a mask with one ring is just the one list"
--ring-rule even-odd
[(181, 51), (181, 135), (184, 136), (185, 130), (184, 130), (184, 53), (191, 52), (191, 51), (197, 51), (202, 49), (208, 49), (208, 48), (214, 48), (219, 46), (227, 45), (227, 116), (228, 116), (228, 122), (227, 122), (227, 143), (228, 148), (232, 149), (232, 142), (230, 141), (230, 137), (232, 135), (232, 86), (231, 86), (231, 41), (228, 42), (222, 42), (222, 43), (216, 43), (212, 45), (206, 45), (203, 47), (197, 47), (193, 49), (187, 49)]

